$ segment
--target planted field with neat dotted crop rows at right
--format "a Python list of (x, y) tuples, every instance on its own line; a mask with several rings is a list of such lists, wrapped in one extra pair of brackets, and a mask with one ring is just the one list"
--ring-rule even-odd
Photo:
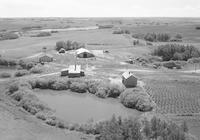
[(200, 112), (199, 82), (155, 80), (146, 90), (157, 104), (157, 112), (164, 114), (192, 114)]

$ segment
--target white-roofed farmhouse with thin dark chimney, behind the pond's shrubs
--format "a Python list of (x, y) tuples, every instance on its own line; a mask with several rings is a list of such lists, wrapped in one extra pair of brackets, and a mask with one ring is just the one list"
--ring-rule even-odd
[(84, 72), (81, 71), (81, 65), (70, 65), (68, 69), (68, 77), (81, 77), (84, 76)]

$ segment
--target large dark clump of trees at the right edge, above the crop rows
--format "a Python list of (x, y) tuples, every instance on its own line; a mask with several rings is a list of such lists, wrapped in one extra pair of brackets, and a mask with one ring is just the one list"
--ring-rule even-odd
[(154, 49), (153, 55), (162, 57), (163, 61), (187, 61), (190, 58), (200, 57), (200, 51), (192, 45), (166, 44)]

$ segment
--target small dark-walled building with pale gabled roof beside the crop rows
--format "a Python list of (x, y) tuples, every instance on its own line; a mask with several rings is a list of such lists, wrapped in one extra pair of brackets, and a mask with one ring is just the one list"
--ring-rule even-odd
[(126, 88), (137, 86), (137, 78), (131, 72), (124, 72), (122, 74), (122, 83)]

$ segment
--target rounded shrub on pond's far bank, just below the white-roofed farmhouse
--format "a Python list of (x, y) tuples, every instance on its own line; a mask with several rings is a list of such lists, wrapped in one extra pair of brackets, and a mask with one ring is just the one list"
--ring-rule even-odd
[(72, 82), (70, 89), (73, 92), (85, 93), (87, 92), (87, 85), (85, 83)]

